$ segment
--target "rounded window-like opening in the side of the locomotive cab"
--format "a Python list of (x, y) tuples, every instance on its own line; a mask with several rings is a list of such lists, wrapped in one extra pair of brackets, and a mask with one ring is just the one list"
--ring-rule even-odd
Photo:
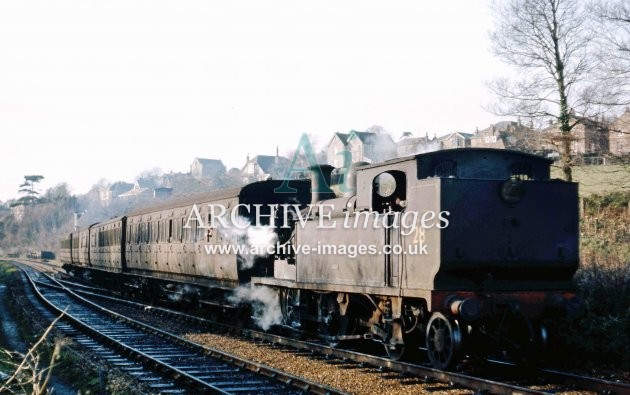
[(401, 211), (407, 202), (407, 177), (400, 170), (379, 174), (372, 181), (372, 210)]

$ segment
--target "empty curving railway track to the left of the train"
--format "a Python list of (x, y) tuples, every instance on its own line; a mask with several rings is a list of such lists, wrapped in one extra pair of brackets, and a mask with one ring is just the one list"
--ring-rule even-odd
[(34, 295), (54, 314), (65, 311), (58, 329), (120, 370), (136, 376), (151, 391), (174, 394), (340, 393), (234, 355), (201, 347), (124, 317), (99, 307), (32, 267), (20, 266)]

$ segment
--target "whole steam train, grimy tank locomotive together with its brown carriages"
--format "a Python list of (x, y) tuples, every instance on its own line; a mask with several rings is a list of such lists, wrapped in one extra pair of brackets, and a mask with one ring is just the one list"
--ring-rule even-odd
[[(317, 166), (310, 182), (262, 181), (94, 224), (64, 237), (60, 256), (101, 285), (195, 304), (265, 287), (282, 325), (332, 344), (377, 341), (392, 359), (426, 349), (447, 369), (465, 355), (528, 356), (548, 341), (545, 322), (584, 309), (572, 287), (577, 185), (551, 180), (550, 165), (436, 151), (357, 167), (344, 193)], [(228, 248), (261, 234), (262, 253)]]

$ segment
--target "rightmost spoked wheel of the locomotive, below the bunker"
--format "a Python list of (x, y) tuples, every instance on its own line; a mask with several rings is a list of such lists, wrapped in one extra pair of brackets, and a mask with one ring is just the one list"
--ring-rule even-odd
[(462, 335), (456, 323), (442, 313), (433, 313), (427, 325), (426, 346), (431, 364), (437, 369), (448, 369), (457, 360)]

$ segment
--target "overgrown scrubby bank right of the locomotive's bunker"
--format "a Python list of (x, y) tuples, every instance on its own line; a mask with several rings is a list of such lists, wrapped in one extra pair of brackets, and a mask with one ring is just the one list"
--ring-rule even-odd
[[(581, 264), (576, 273), (587, 315), (558, 328), (565, 363), (630, 368), (630, 192), (583, 198)], [(625, 380), (630, 377), (625, 377)]]

